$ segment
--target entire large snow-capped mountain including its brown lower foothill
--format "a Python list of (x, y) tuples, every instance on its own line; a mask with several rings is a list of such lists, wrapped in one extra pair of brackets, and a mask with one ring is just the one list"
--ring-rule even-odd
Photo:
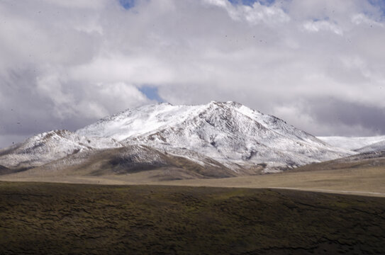
[[(76, 132), (56, 130), (0, 151), (6, 170), (128, 174), (174, 169), (189, 178), (281, 171), (355, 152), (233, 101), (128, 109)], [(71, 171), (69, 171), (71, 169)], [(167, 177), (168, 178), (168, 177)]]

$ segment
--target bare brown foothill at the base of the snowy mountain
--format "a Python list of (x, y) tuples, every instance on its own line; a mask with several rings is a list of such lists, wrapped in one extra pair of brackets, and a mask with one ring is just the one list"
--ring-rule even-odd
[(195, 162), (140, 145), (79, 152), (16, 174), (20, 177), (105, 176), (144, 171), (151, 181), (235, 176), (233, 170), (213, 159), (204, 158), (201, 162)]

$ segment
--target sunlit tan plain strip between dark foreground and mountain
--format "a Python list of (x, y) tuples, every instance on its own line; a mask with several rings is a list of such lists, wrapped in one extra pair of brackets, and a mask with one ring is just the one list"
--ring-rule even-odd
[[(172, 170), (170, 170), (172, 171)], [(284, 172), (223, 179), (164, 179), (167, 169), (141, 171), (135, 174), (104, 176), (0, 176), (1, 181), (43, 181), (58, 183), (93, 183), (109, 185), (149, 184), (171, 186), (208, 186), (237, 188), (291, 188), (328, 193), (352, 193), (365, 196), (385, 196), (385, 167), (358, 167), (320, 171)], [(171, 174), (172, 175), (172, 174)]]

